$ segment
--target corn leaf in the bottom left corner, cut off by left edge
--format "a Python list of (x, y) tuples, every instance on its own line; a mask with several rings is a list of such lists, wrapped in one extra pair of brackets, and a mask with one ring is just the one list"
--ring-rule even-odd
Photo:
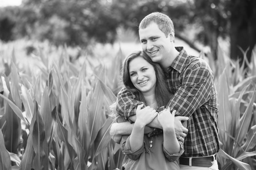
[(10, 169), (11, 168), (11, 158), (8, 151), (4, 145), (4, 135), (0, 129), (0, 169)]

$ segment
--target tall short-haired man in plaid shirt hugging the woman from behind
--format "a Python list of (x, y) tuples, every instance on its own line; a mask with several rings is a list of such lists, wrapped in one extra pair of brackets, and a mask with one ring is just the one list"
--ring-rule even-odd
[[(218, 108), (212, 70), (204, 60), (188, 55), (183, 47), (174, 46), (174, 27), (167, 15), (159, 12), (147, 15), (140, 22), (139, 36), (143, 51), (166, 73), (166, 83), (173, 94), (166, 107), (170, 107), (171, 112), (176, 110), (176, 115), (189, 117), (188, 129), (180, 126), (180, 120), (186, 120), (184, 117), (175, 120), (176, 136), (185, 137), (188, 132), (180, 168), (218, 169)], [(123, 88), (117, 96), (116, 111), (124, 119), (135, 122), (139, 104), (132, 92)], [(163, 109), (160, 107), (160, 111)], [(117, 126), (113, 124), (110, 131), (115, 141), (131, 132), (132, 125), (122, 130)], [(157, 119), (148, 126), (161, 129)]]

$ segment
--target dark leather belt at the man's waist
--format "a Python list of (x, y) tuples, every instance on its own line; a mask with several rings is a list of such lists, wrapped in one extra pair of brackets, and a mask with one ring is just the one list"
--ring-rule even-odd
[[(217, 153), (215, 155), (206, 156), (206, 157), (196, 157), (196, 158), (180, 157), (180, 164), (188, 165), (188, 166), (211, 167), (212, 162), (216, 159), (217, 159)], [(190, 165), (189, 165), (189, 161), (191, 161)]]

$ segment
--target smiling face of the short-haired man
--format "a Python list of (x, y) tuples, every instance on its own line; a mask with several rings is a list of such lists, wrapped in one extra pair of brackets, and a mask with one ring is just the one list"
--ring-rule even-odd
[(170, 34), (166, 37), (154, 22), (146, 28), (139, 30), (140, 42), (153, 62), (164, 63), (170, 55), (171, 39)]

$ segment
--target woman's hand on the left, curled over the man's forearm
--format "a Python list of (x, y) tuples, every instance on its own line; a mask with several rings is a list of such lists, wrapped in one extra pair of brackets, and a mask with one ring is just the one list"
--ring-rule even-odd
[(150, 106), (147, 106), (143, 109), (143, 104), (139, 105), (136, 110), (136, 123), (139, 123), (141, 126), (146, 126), (148, 123), (152, 122), (157, 116), (158, 112)]

